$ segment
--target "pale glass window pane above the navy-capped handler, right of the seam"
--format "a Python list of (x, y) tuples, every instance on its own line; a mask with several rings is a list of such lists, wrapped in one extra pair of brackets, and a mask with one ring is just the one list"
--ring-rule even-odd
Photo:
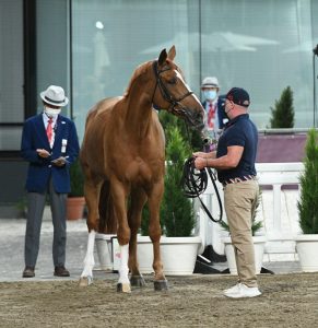
[(202, 0), (201, 17), (203, 75), (216, 75), (222, 92), (245, 87), (259, 128), (290, 85), (295, 127), (313, 125), (310, 1)]

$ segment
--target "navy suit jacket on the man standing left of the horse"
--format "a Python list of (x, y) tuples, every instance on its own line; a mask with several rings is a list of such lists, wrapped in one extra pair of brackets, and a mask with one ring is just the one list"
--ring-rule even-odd
[[(62, 139), (67, 140), (66, 153), (62, 153)], [(43, 159), (37, 154), (37, 149), (45, 149), (51, 155)], [(79, 150), (75, 125), (69, 118), (58, 116), (55, 125), (55, 143), (52, 149), (46, 136), (43, 114), (28, 118), (23, 126), (21, 140), (21, 154), (28, 161), (26, 190), (30, 192), (44, 192), (51, 176), (56, 192), (70, 192), (69, 166), (78, 157)], [(69, 163), (63, 166), (54, 165), (51, 161), (59, 156), (68, 156)]]

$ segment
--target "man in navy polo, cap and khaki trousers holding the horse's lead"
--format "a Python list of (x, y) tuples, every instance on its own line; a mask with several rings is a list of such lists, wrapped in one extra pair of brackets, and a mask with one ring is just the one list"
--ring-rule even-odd
[(258, 132), (247, 114), (249, 104), (249, 95), (244, 89), (231, 89), (225, 97), (229, 121), (219, 139), (216, 151), (193, 153), (196, 168), (216, 168), (224, 187), (224, 207), (238, 272), (238, 283), (224, 291), (224, 295), (232, 298), (261, 294), (251, 237), (251, 214), (259, 197), (255, 168)]

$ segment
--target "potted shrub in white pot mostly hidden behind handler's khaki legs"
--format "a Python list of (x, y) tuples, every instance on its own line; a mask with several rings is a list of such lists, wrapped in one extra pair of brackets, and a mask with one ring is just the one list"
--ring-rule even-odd
[[(260, 201), (261, 201), (261, 190), (259, 192), (259, 198), (256, 203), (256, 207), (251, 213), (251, 235), (252, 235), (254, 249), (255, 249), (256, 273), (260, 273), (260, 271), (261, 271), (264, 245), (266, 245), (266, 241), (267, 241), (266, 236), (258, 234), (259, 231), (262, 229), (262, 222), (256, 220), (257, 209), (260, 204)], [(221, 221), (220, 224), (225, 231), (227, 231), (229, 233), (229, 226), (225, 221)], [(229, 272), (232, 274), (237, 274), (234, 247), (232, 245), (231, 236), (224, 237), (223, 242), (224, 242), (225, 255), (226, 255)]]

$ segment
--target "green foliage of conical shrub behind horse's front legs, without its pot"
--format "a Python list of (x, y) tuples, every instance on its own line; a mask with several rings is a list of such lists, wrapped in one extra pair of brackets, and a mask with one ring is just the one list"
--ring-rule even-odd
[[(160, 120), (166, 138), (165, 192), (161, 204), (161, 226), (166, 236), (190, 236), (195, 227), (192, 202), (184, 196), (181, 176), (184, 163), (192, 149), (201, 149), (200, 134), (186, 127), (176, 116), (160, 112)], [(192, 142), (192, 143), (191, 143)], [(197, 147), (196, 147), (197, 144)], [(149, 235), (149, 209), (143, 208), (140, 232)]]

